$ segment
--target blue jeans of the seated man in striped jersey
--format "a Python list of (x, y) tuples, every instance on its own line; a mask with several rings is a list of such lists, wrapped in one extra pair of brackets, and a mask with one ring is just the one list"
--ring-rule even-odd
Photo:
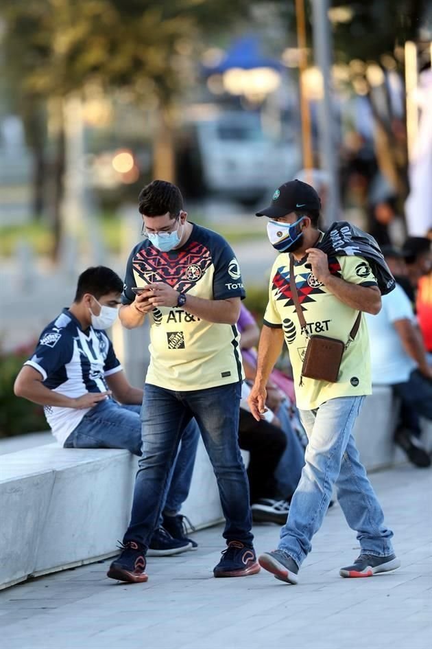
[[(64, 442), (64, 448), (126, 448), (141, 455), (141, 409), (142, 406), (119, 405), (113, 399), (99, 402), (84, 415)], [(200, 429), (192, 420), (184, 429), (164, 494), (163, 510), (171, 514), (179, 512), (188, 497), (199, 440)], [(161, 524), (162, 517), (158, 521)]]

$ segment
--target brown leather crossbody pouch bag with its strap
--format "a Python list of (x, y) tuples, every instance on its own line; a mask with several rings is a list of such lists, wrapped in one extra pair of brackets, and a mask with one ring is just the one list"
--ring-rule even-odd
[[(294, 306), (300, 327), (303, 332), (307, 332), (307, 323), (304, 319), (303, 310), (300, 306), (298, 299), (298, 291), (296, 282), (294, 280), (294, 258), (289, 255), (289, 286), (291, 288), (291, 295), (293, 298)], [(316, 380), (327, 381), (328, 383), (336, 383), (339, 376), (339, 369), (341, 367), (342, 356), (348, 346), (349, 342), (354, 340), (359, 330), (361, 321), (361, 312), (350, 331), (350, 337), (347, 343), (328, 336), (320, 336), (315, 334), (309, 336), (306, 352), (304, 354), (302, 365), (302, 376), (300, 377), (300, 385), (302, 385), (303, 376), (307, 378), (315, 378)]]

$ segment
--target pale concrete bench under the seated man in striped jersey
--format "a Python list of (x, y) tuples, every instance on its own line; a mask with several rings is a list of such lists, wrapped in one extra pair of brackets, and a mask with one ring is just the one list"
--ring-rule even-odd
[[(128, 451), (56, 443), (0, 456), (0, 588), (117, 554), (136, 462)], [(222, 519), (202, 441), (182, 512), (197, 528)]]

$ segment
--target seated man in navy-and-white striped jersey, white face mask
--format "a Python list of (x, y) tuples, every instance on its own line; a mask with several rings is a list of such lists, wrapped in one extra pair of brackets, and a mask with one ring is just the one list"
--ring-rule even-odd
[[(43, 405), (51, 431), (64, 448), (125, 448), (141, 455), (143, 390), (128, 383), (104, 329), (117, 318), (123, 282), (105, 266), (80, 275), (70, 308), (43, 330), (36, 350), (16, 377), (16, 396)], [(114, 398), (112, 398), (112, 396)], [(187, 497), (199, 438), (192, 420), (182, 438), (171, 485), (165, 492), (165, 527), (182, 530), (178, 514)], [(154, 532), (153, 554), (196, 547), (184, 533)], [(150, 554), (150, 553), (149, 553)]]

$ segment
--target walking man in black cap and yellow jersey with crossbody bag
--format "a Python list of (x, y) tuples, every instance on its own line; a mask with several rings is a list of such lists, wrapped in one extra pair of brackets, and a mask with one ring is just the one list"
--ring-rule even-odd
[[(302, 376), (309, 337), (319, 334), (348, 342), (359, 312), (379, 312), (381, 295), (376, 279), (365, 258), (352, 254), (328, 257), (317, 247), (324, 235), (317, 229), (320, 198), (311, 185), (298, 180), (285, 183), (274, 192), (272, 205), (257, 216), (269, 218), (269, 240), (280, 254), (270, 277), (250, 409), (256, 420), (263, 418), (265, 384), (285, 339), (297, 405), (309, 438), (305, 466), (278, 549), (262, 554), (259, 563), (280, 580), (298, 582), (298, 569), (311, 551), (311, 539), (322, 525), (335, 485), (346, 521), (357, 531), (361, 546), (359, 558), (342, 568), (341, 576), (368, 577), (396, 569), (400, 561), (390, 540), (393, 532), (384, 525), (381, 506), (352, 437), (365, 395), (372, 391), (368, 329), (363, 317), (344, 350), (334, 383)], [(290, 287), (290, 253), (298, 310)], [(300, 308), (304, 329), (298, 317)], [(319, 366), (320, 359), (314, 360)]]

